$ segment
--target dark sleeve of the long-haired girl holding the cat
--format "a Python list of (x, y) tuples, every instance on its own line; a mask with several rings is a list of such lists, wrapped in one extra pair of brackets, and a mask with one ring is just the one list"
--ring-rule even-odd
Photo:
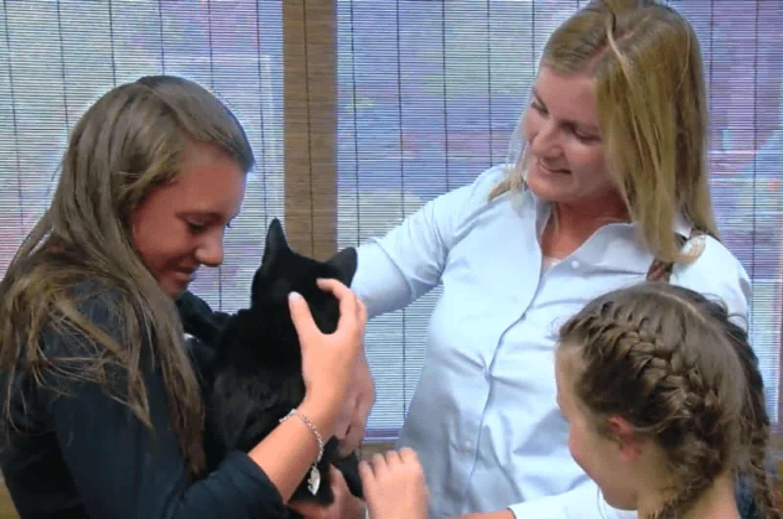
[[(70, 380), (64, 386), (67, 394), (52, 396), (46, 404), (63, 463), (88, 516), (280, 517), (280, 493), (244, 452), (230, 453), (217, 470), (191, 481), (171, 429), (163, 378), (153, 369), (144, 376), (153, 430), (97, 383)], [(121, 373), (112, 374), (112, 387), (119, 389), (124, 384)]]

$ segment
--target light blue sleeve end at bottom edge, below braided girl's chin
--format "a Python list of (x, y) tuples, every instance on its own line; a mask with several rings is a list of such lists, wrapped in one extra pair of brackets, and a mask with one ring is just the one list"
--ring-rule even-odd
[(547, 495), (508, 507), (516, 519), (636, 519), (636, 511), (616, 510), (601, 496), (594, 481), (586, 480), (568, 492)]

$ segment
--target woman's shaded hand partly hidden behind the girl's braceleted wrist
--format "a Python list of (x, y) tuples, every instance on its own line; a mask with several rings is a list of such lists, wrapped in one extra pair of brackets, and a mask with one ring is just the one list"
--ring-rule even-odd
[(370, 366), (367, 365), (367, 358), (360, 355), (335, 432), (340, 441), (341, 455), (351, 454), (362, 444), (367, 417), (370, 416), (374, 402), (375, 384), (370, 375)]

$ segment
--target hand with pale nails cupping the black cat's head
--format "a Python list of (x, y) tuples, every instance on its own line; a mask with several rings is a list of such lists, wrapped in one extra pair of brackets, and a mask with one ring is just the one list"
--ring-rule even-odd
[(319, 330), (300, 295), (289, 296), (289, 307), (301, 344), (301, 373), (305, 383), (305, 400), (299, 407), (308, 409), (303, 411), (305, 415), (318, 420), (323, 437), (330, 437), (335, 432), (337, 413), (345, 404), (359, 357), (363, 357), (367, 311), (355, 293), (340, 281), (321, 279), (318, 286), (331, 292), (340, 304), (340, 319), (333, 333)]

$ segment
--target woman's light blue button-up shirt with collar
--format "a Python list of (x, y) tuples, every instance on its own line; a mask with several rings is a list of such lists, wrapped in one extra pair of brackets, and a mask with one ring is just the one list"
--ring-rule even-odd
[[(420, 382), (399, 439), (417, 451), (431, 517), (510, 508), (516, 517), (636, 517), (612, 510), (568, 453), (555, 401), (557, 327), (601, 293), (644, 281), (653, 260), (631, 223), (611, 223), (542, 274), (550, 206), (531, 191), (489, 201), (500, 167), (430, 201), (359, 247), (352, 288), (370, 317), (438, 284)], [(680, 222), (676, 229), (688, 235)], [(713, 238), (671, 282), (745, 318), (750, 282)]]

